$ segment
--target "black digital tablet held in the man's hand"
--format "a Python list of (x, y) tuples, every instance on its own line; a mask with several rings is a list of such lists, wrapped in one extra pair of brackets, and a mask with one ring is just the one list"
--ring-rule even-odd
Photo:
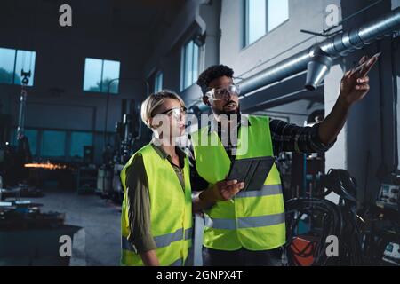
[(271, 156), (235, 160), (232, 162), (227, 180), (244, 182), (243, 190), (260, 190), (275, 162)]

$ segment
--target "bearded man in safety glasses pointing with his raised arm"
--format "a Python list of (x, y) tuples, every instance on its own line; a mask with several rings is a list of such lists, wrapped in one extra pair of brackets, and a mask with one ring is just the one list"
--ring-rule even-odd
[[(276, 156), (283, 151), (327, 151), (346, 122), (350, 106), (363, 99), (369, 91), (366, 75), (376, 60), (363, 57), (360, 64), (366, 64), (361, 70), (350, 70), (343, 76), (340, 95), (331, 114), (312, 127), (300, 127), (269, 119), (268, 116), (241, 114), (239, 86), (233, 81), (234, 71), (223, 65), (207, 68), (199, 76), (197, 84), (202, 89), (204, 104), (212, 108), (216, 123), (201, 128), (191, 136), (195, 157), (192, 162), (192, 190), (210, 187), (224, 180), (235, 159)], [(230, 125), (228, 139), (227, 130), (223, 127), (224, 118), (236, 126)], [(247, 133), (247, 139), (241, 141), (244, 133)], [(208, 139), (202, 139), (204, 136)], [(202, 145), (203, 141), (212, 138), (219, 141), (216, 146)], [(233, 143), (235, 140), (236, 143)], [(236, 146), (245, 143), (247, 151), (236, 154)], [(279, 248), (285, 242), (285, 222), (284, 198), (276, 165), (269, 171), (260, 190), (239, 192), (228, 201), (215, 203), (211, 202), (213, 197), (208, 195), (203, 191), (194, 197), (197, 201), (212, 204), (204, 210), (204, 265), (279, 264), (276, 256), (279, 256)], [(196, 211), (196, 207), (194, 209)]]

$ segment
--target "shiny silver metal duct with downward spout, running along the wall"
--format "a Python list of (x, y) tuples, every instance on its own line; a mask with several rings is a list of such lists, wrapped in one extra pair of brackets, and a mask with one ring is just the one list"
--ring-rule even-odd
[(365, 45), (390, 36), (400, 28), (400, 8), (372, 20), (360, 28), (351, 29), (316, 43), (305, 51), (284, 59), (258, 74), (244, 79), (241, 83), (242, 94), (255, 91), (270, 83), (308, 70), (305, 88), (314, 91), (329, 73), (334, 59), (363, 48)]

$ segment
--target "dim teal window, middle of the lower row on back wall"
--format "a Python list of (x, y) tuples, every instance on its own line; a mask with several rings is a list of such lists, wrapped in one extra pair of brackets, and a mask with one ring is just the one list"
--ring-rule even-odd
[(64, 157), (67, 134), (64, 131), (44, 130), (42, 151), (44, 157)]

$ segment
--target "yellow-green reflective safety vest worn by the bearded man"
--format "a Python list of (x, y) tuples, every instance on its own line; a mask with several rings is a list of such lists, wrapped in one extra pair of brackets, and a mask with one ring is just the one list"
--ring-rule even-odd
[[(240, 127), (236, 160), (273, 156), (268, 117), (250, 115), (249, 122), (248, 126)], [(210, 146), (212, 140), (218, 145)], [(192, 141), (200, 177), (209, 185), (224, 180), (231, 162), (218, 134), (215, 131), (209, 133), (209, 127), (204, 127), (192, 135)], [(244, 151), (246, 147), (247, 151)], [(229, 201), (218, 201), (205, 213), (206, 248), (232, 251), (282, 246), (285, 241), (284, 198), (276, 165), (273, 165), (260, 190), (239, 192)]]

